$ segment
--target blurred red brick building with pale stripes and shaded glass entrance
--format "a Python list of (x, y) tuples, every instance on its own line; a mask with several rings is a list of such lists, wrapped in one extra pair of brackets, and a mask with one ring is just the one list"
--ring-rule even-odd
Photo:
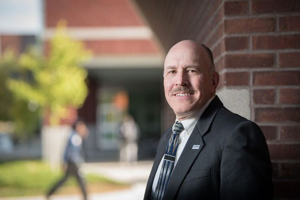
[(44, 9), (45, 47), (65, 19), (70, 36), (94, 53), (85, 65), (89, 94), (78, 111), (90, 129), (87, 159), (119, 159), (124, 112), (141, 128), (139, 159), (153, 158), (161, 135), (164, 53), (140, 10), (130, 0), (46, 0)]

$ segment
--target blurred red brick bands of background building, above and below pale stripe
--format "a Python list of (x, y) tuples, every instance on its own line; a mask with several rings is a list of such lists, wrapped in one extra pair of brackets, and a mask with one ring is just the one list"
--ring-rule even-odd
[[(70, 28), (101, 28), (144, 26), (142, 17), (130, 0), (45, 0), (45, 26), (54, 28), (60, 19), (67, 20)], [(82, 40), (97, 55), (159, 54), (160, 49), (152, 38), (89, 39)], [(48, 41), (44, 50), (49, 51)]]

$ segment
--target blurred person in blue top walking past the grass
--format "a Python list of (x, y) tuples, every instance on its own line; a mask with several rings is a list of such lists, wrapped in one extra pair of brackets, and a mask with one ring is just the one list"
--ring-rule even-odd
[(87, 199), (85, 183), (80, 173), (80, 166), (84, 162), (82, 153), (82, 140), (88, 136), (88, 129), (85, 122), (77, 120), (72, 126), (72, 132), (67, 142), (67, 147), (64, 153), (63, 169), (65, 175), (60, 179), (47, 193), (47, 199), (52, 195), (66, 180), (72, 175), (75, 176), (82, 191), (84, 200)]

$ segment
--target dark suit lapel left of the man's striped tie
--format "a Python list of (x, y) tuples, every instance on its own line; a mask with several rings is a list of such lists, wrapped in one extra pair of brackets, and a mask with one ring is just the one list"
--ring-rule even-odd
[(166, 152), (167, 142), (170, 139), (171, 134), (172, 134), (172, 128), (167, 129), (166, 133), (162, 136), (161, 141), (158, 144), (157, 153), (147, 182), (144, 199), (151, 199), (154, 177), (158, 169), (159, 163), (161, 162), (161, 159)]

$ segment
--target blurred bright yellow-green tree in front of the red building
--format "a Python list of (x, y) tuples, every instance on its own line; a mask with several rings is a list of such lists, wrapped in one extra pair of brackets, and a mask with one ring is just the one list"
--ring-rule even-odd
[(82, 43), (67, 35), (65, 23), (61, 21), (50, 40), (47, 56), (34, 48), (20, 55), (21, 69), (32, 77), (10, 78), (7, 86), (18, 99), (28, 101), (29, 106), (50, 111), (50, 123), (57, 124), (66, 116), (67, 106), (79, 108), (85, 101), (87, 71), (80, 65), (89, 55)]

